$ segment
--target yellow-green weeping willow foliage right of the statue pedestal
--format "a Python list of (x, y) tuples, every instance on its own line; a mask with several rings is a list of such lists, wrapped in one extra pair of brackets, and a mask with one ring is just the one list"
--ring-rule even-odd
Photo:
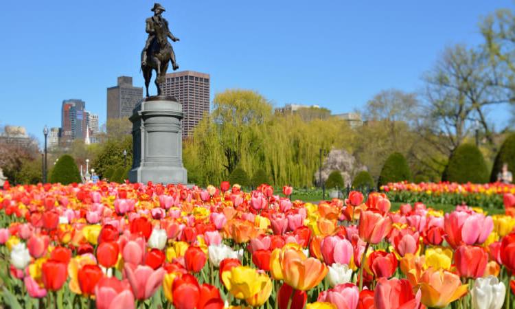
[(264, 170), (275, 185), (309, 186), (319, 150), (348, 146), (352, 136), (341, 120), (273, 115), (262, 95), (227, 90), (215, 96), (213, 113), (185, 142), (183, 158), (190, 180), (201, 185), (227, 180), (240, 167), (250, 175)]

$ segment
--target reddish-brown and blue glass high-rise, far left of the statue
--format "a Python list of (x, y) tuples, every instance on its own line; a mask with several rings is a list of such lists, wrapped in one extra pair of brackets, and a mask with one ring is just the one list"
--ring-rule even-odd
[(62, 101), (61, 139), (69, 143), (73, 139), (84, 139), (89, 113), (84, 111), (86, 102), (77, 99)]

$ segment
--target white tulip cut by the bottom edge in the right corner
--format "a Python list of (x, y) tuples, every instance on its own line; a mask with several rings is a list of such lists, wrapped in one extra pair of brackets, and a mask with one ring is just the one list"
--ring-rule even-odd
[(472, 288), (472, 306), (475, 309), (500, 309), (504, 304), (506, 288), (492, 275), (477, 278)]

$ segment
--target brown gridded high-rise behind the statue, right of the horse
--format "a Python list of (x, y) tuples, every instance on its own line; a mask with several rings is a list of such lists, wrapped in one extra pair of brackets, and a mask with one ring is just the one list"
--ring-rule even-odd
[(181, 71), (166, 74), (164, 95), (183, 104), (183, 138), (190, 137), (198, 122), (209, 114), (209, 74)]

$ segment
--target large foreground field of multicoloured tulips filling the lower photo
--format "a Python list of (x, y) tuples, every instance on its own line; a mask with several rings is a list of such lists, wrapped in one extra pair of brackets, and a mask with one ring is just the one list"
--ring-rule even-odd
[(490, 216), (462, 203), (392, 211), (375, 192), (304, 203), (290, 201), (291, 187), (244, 192), (227, 182), (6, 184), (0, 304), (515, 308), (510, 190), (495, 193), (505, 214)]

